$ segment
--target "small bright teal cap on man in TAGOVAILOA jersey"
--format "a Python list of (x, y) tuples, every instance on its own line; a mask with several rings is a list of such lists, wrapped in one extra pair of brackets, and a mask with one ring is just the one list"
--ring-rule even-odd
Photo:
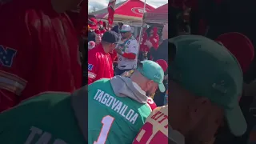
[(157, 62), (145, 60), (139, 62), (137, 70), (146, 78), (158, 83), (158, 88), (161, 92), (165, 92), (166, 88), (162, 81), (164, 78), (164, 72), (162, 67)]

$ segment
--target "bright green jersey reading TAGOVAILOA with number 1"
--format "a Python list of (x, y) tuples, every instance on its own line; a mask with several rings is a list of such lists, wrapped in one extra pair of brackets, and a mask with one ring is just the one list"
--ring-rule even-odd
[(88, 86), (89, 144), (131, 144), (150, 115), (151, 109), (114, 94), (110, 79)]

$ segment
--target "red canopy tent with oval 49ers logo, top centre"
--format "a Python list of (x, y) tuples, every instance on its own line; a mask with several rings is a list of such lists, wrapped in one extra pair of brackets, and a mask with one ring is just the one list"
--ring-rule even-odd
[[(140, 0), (128, 0), (115, 6), (114, 21), (141, 22), (143, 17), (144, 2)], [(146, 4), (146, 12), (154, 10), (154, 7)], [(107, 19), (107, 9), (91, 13), (95, 18)]]

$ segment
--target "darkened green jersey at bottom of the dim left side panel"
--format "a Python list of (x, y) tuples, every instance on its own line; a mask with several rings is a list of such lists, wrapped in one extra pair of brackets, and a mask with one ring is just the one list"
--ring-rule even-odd
[(41, 94), (0, 114), (1, 144), (85, 144), (70, 94)]

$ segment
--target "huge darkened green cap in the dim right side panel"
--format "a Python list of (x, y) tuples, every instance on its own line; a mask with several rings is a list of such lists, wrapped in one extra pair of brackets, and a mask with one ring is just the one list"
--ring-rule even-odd
[(230, 132), (241, 136), (247, 124), (238, 105), (242, 96), (242, 70), (225, 46), (198, 35), (169, 39), (176, 54), (170, 62), (169, 78), (200, 97), (209, 98), (225, 110)]

